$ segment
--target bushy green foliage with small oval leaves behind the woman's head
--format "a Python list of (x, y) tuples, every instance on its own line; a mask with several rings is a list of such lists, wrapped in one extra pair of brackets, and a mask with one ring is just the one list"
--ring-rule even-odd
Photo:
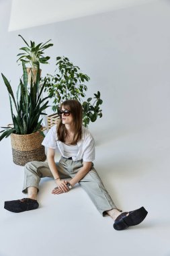
[(67, 57), (56, 57), (56, 74), (46, 76), (46, 85), (44, 91), (48, 92), (50, 98), (53, 98), (52, 110), (58, 110), (60, 103), (68, 99), (79, 100), (83, 106), (83, 125), (87, 127), (89, 122), (95, 122), (97, 117), (102, 117), (100, 106), (102, 100), (100, 92), (94, 94), (93, 98), (85, 98), (89, 76), (81, 73), (78, 66), (73, 65)]

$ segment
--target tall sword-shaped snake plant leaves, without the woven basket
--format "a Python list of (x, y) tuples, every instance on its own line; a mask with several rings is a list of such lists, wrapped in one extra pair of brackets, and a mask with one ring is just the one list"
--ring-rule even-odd
[[(42, 119), (40, 119), (40, 115), (46, 115), (43, 111), (48, 108), (48, 96), (46, 98), (41, 98), (44, 87), (46, 86), (46, 79), (44, 80), (44, 84), (40, 89), (40, 75), (39, 75), (39, 64), (38, 67), (38, 75), (36, 77), (36, 82), (31, 81), (30, 90), (28, 90), (28, 74), (26, 71), (26, 65), (24, 61), (22, 61), (23, 67), (23, 79), (20, 79), (19, 86), (17, 88), (16, 99), (13, 94), (13, 90), (3, 73), (1, 73), (3, 77), (3, 81), (7, 90), (9, 92), (9, 102), (11, 106), (11, 117), (13, 120), (13, 127), (1, 127), (4, 128), (0, 133), (0, 141), (4, 137), (8, 137), (11, 133), (16, 134), (30, 134), (36, 131), (40, 131), (42, 127)], [(13, 105), (15, 106), (15, 112), (13, 113)], [(42, 133), (43, 134), (43, 133)]]

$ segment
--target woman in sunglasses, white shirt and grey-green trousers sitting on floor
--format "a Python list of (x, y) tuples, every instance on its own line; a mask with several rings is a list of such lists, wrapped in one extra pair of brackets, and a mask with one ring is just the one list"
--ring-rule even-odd
[[(28, 193), (28, 197), (5, 201), (5, 209), (11, 212), (24, 212), (38, 208), (37, 193), (40, 179), (52, 177), (56, 183), (52, 194), (69, 192), (79, 183), (99, 213), (103, 216), (109, 215), (114, 220), (116, 230), (140, 224), (147, 214), (144, 207), (121, 213), (93, 166), (95, 142), (89, 130), (82, 126), (83, 109), (80, 102), (66, 100), (60, 106), (59, 115), (61, 120), (58, 128), (54, 125), (42, 142), (42, 145), (48, 148), (48, 162), (33, 161), (25, 166), (23, 193)], [(60, 161), (55, 163), (56, 148), (62, 156)], [(68, 178), (70, 180), (66, 181)]]

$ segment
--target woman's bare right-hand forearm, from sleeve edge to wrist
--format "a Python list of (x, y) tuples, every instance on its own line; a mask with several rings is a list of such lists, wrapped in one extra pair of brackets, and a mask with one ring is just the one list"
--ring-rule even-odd
[(74, 186), (76, 183), (81, 181), (83, 177), (85, 177), (85, 175), (89, 172), (89, 170), (91, 170), (91, 163), (92, 162), (83, 162), (83, 167), (81, 168), (81, 170), (79, 170), (79, 172), (77, 172), (75, 177), (69, 181), (71, 186)]

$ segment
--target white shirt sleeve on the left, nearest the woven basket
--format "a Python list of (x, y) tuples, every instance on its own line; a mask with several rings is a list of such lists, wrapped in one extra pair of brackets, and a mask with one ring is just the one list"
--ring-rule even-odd
[(56, 150), (57, 144), (56, 144), (56, 125), (52, 126), (48, 133), (46, 134), (46, 137), (44, 137), (44, 140), (42, 141), (42, 145), (46, 148), (52, 148)]

